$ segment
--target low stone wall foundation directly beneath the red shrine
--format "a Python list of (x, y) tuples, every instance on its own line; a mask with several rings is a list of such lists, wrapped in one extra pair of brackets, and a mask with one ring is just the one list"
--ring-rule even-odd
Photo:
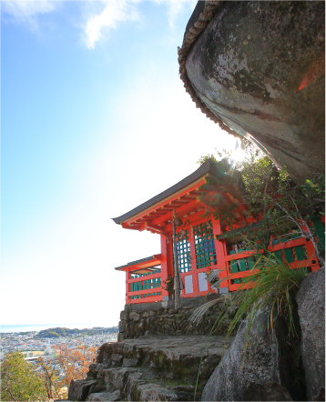
[[(193, 326), (188, 318), (196, 307), (206, 301), (217, 299), (217, 304), (209, 308), (200, 321), (199, 326)], [(120, 313), (118, 342), (124, 339), (140, 337), (144, 335), (209, 335), (211, 328), (219, 318), (225, 304), (225, 296), (214, 295), (183, 299), (181, 308), (174, 308), (174, 302), (142, 303), (138, 305), (126, 305)], [(222, 324), (214, 335), (225, 335), (230, 320), (234, 317), (232, 309), (223, 319)]]

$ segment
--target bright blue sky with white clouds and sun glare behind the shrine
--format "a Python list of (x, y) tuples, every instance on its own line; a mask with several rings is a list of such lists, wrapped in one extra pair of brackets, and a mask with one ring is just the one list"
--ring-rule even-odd
[(117, 325), (111, 220), (234, 148), (178, 78), (191, 0), (0, 0), (0, 325)]

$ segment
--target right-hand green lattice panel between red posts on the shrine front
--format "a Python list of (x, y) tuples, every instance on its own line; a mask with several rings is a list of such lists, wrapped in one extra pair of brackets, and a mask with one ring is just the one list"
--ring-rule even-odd
[(214, 244), (213, 229), (211, 223), (204, 222), (194, 227), (195, 250), (197, 269), (217, 264)]

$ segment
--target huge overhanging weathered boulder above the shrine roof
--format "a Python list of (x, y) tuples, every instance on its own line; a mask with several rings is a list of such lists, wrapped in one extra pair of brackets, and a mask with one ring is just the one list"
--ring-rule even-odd
[(188, 53), (197, 95), (240, 136), (253, 136), (298, 182), (325, 172), (325, 1), (220, 3)]

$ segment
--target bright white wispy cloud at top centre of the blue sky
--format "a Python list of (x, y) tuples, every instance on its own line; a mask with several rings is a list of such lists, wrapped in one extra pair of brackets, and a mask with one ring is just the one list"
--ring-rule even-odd
[(95, 43), (102, 38), (104, 31), (117, 28), (121, 22), (136, 21), (139, 18), (135, 4), (137, 0), (98, 0), (91, 2), (93, 6), (102, 5), (104, 9), (99, 14), (87, 18), (85, 29), (86, 44), (94, 48)]

